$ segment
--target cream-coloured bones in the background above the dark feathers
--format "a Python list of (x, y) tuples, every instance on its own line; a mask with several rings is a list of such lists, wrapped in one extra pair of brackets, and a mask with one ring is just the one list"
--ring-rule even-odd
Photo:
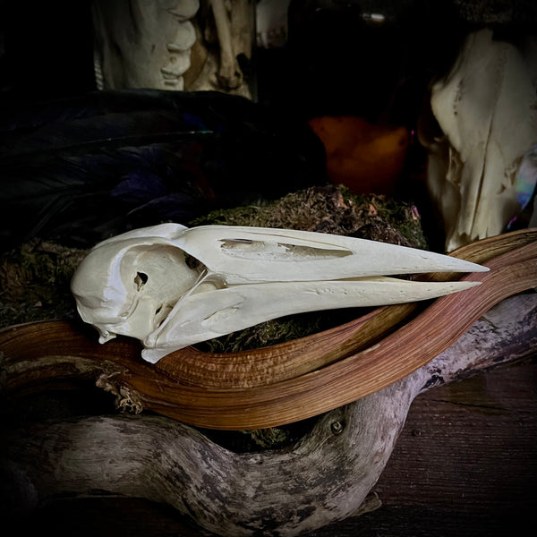
[(94, 0), (99, 90), (220, 90), (251, 98), (239, 59), (251, 61), (249, 0)]

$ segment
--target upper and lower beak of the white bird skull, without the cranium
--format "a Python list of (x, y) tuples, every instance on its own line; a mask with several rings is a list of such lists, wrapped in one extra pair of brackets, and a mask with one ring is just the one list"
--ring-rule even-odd
[[(479, 285), (408, 281), (387, 274), (489, 270), (430, 251), (281, 229), (197, 227), (176, 243), (207, 272), (144, 340), (142, 356), (149, 362), (294, 313), (416, 302)], [(208, 289), (211, 281), (217, 285)]]

